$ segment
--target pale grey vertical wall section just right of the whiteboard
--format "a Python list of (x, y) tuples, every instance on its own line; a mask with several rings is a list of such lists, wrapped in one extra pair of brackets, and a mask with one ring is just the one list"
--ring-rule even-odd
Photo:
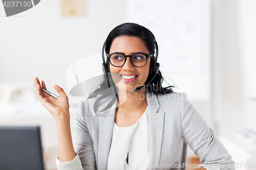
[(246, 125), (239, 7), (234, 0), (212, 5), (212, 111), (218, 132), (228, 135)]

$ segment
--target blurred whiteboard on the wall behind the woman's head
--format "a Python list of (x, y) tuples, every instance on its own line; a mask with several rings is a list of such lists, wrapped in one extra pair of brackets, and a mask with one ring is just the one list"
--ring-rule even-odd
[(210, 0), (126, 1), (127, 22), (155, 35), (164, 79), (193, 101), (210, 100), (210, 12)]

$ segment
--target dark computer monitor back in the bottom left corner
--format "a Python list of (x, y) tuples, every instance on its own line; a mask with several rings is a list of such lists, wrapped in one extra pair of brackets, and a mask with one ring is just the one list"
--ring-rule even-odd
[(44, 170), (40, 127), (0, 126), (0, 169)]

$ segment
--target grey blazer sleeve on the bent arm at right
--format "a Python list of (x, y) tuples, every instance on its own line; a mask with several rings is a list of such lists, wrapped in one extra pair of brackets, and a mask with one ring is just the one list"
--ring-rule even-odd
[(182, 138), (200, 157), (200, 164), (208, 170), (234, 170), (234, 161), (223, 144), (205, 123), (202, 116), (187, 100), (187, 94), (181, 94)]

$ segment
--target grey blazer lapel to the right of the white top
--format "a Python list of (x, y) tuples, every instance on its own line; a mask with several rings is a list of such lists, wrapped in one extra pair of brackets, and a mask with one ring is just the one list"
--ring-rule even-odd
[[(148, 104), (148, 126), (150, 130), (150, 152), (151, 152), (151, 165), (159, 164), (163, 128), (164, 128), (164, 112), (159, 112), (160, 104), (157, 96), (152, 92), (147, 91), (147, 104)], [(150, 169), (153, 169), (150, 166)]]

